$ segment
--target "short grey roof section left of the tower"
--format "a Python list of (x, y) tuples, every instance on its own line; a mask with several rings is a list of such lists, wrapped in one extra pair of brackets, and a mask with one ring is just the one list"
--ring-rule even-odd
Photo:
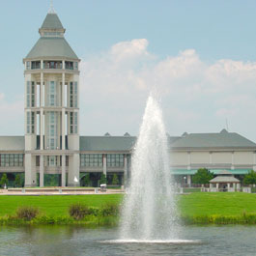
[(24, 136), (0, 136), (0, 151), (24, 151)]

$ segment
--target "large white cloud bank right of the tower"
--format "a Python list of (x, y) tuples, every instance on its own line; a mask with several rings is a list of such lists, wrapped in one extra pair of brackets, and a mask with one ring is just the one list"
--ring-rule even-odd
[(194, 49), (160, 59), (148, 45), (146, 39), (116, 43), (82, 60), (82, 134), (136, 134), (156, 88), (170, 134), (219, 131), (228, 118), (232, 130), (256, 140), (256, 63), (207, 63)]

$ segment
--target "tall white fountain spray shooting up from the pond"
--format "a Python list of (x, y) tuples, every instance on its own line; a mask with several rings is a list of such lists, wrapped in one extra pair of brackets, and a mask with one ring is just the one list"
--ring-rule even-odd
[(151, 94), (131, 159), (131, 180), (121, 218), (122, 241), (173, 241), (178, 215), (162, 111)]

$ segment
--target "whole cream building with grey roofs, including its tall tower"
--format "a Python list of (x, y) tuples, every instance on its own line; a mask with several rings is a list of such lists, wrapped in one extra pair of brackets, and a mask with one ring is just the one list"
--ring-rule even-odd
[[(53, 9), (39, 30), (40, 39), (23, 59), (25, 135), (0, 136), (0, 174), (24, 176), (25, 186), (83, 183), (86, 173), (99, 185), (129, 176), (136, 137), (79, 135), (79, 58), (65, 40), (65, 28)], [(180, 182), (206, 167), (239, 176), (256, 169), (256, 144), (238, 133), (184, 133), (169, 136), (172, 171)]]

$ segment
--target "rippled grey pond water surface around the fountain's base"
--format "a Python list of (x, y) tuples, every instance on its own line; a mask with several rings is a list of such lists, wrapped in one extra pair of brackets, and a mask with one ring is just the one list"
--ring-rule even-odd
[[(0, 227), (0, 255), (255, 255), (255, 226), (185, 227), (187, 242), (121, 242), (116, 229)], [(200, 242), (199, 242), (200, 241)]]

